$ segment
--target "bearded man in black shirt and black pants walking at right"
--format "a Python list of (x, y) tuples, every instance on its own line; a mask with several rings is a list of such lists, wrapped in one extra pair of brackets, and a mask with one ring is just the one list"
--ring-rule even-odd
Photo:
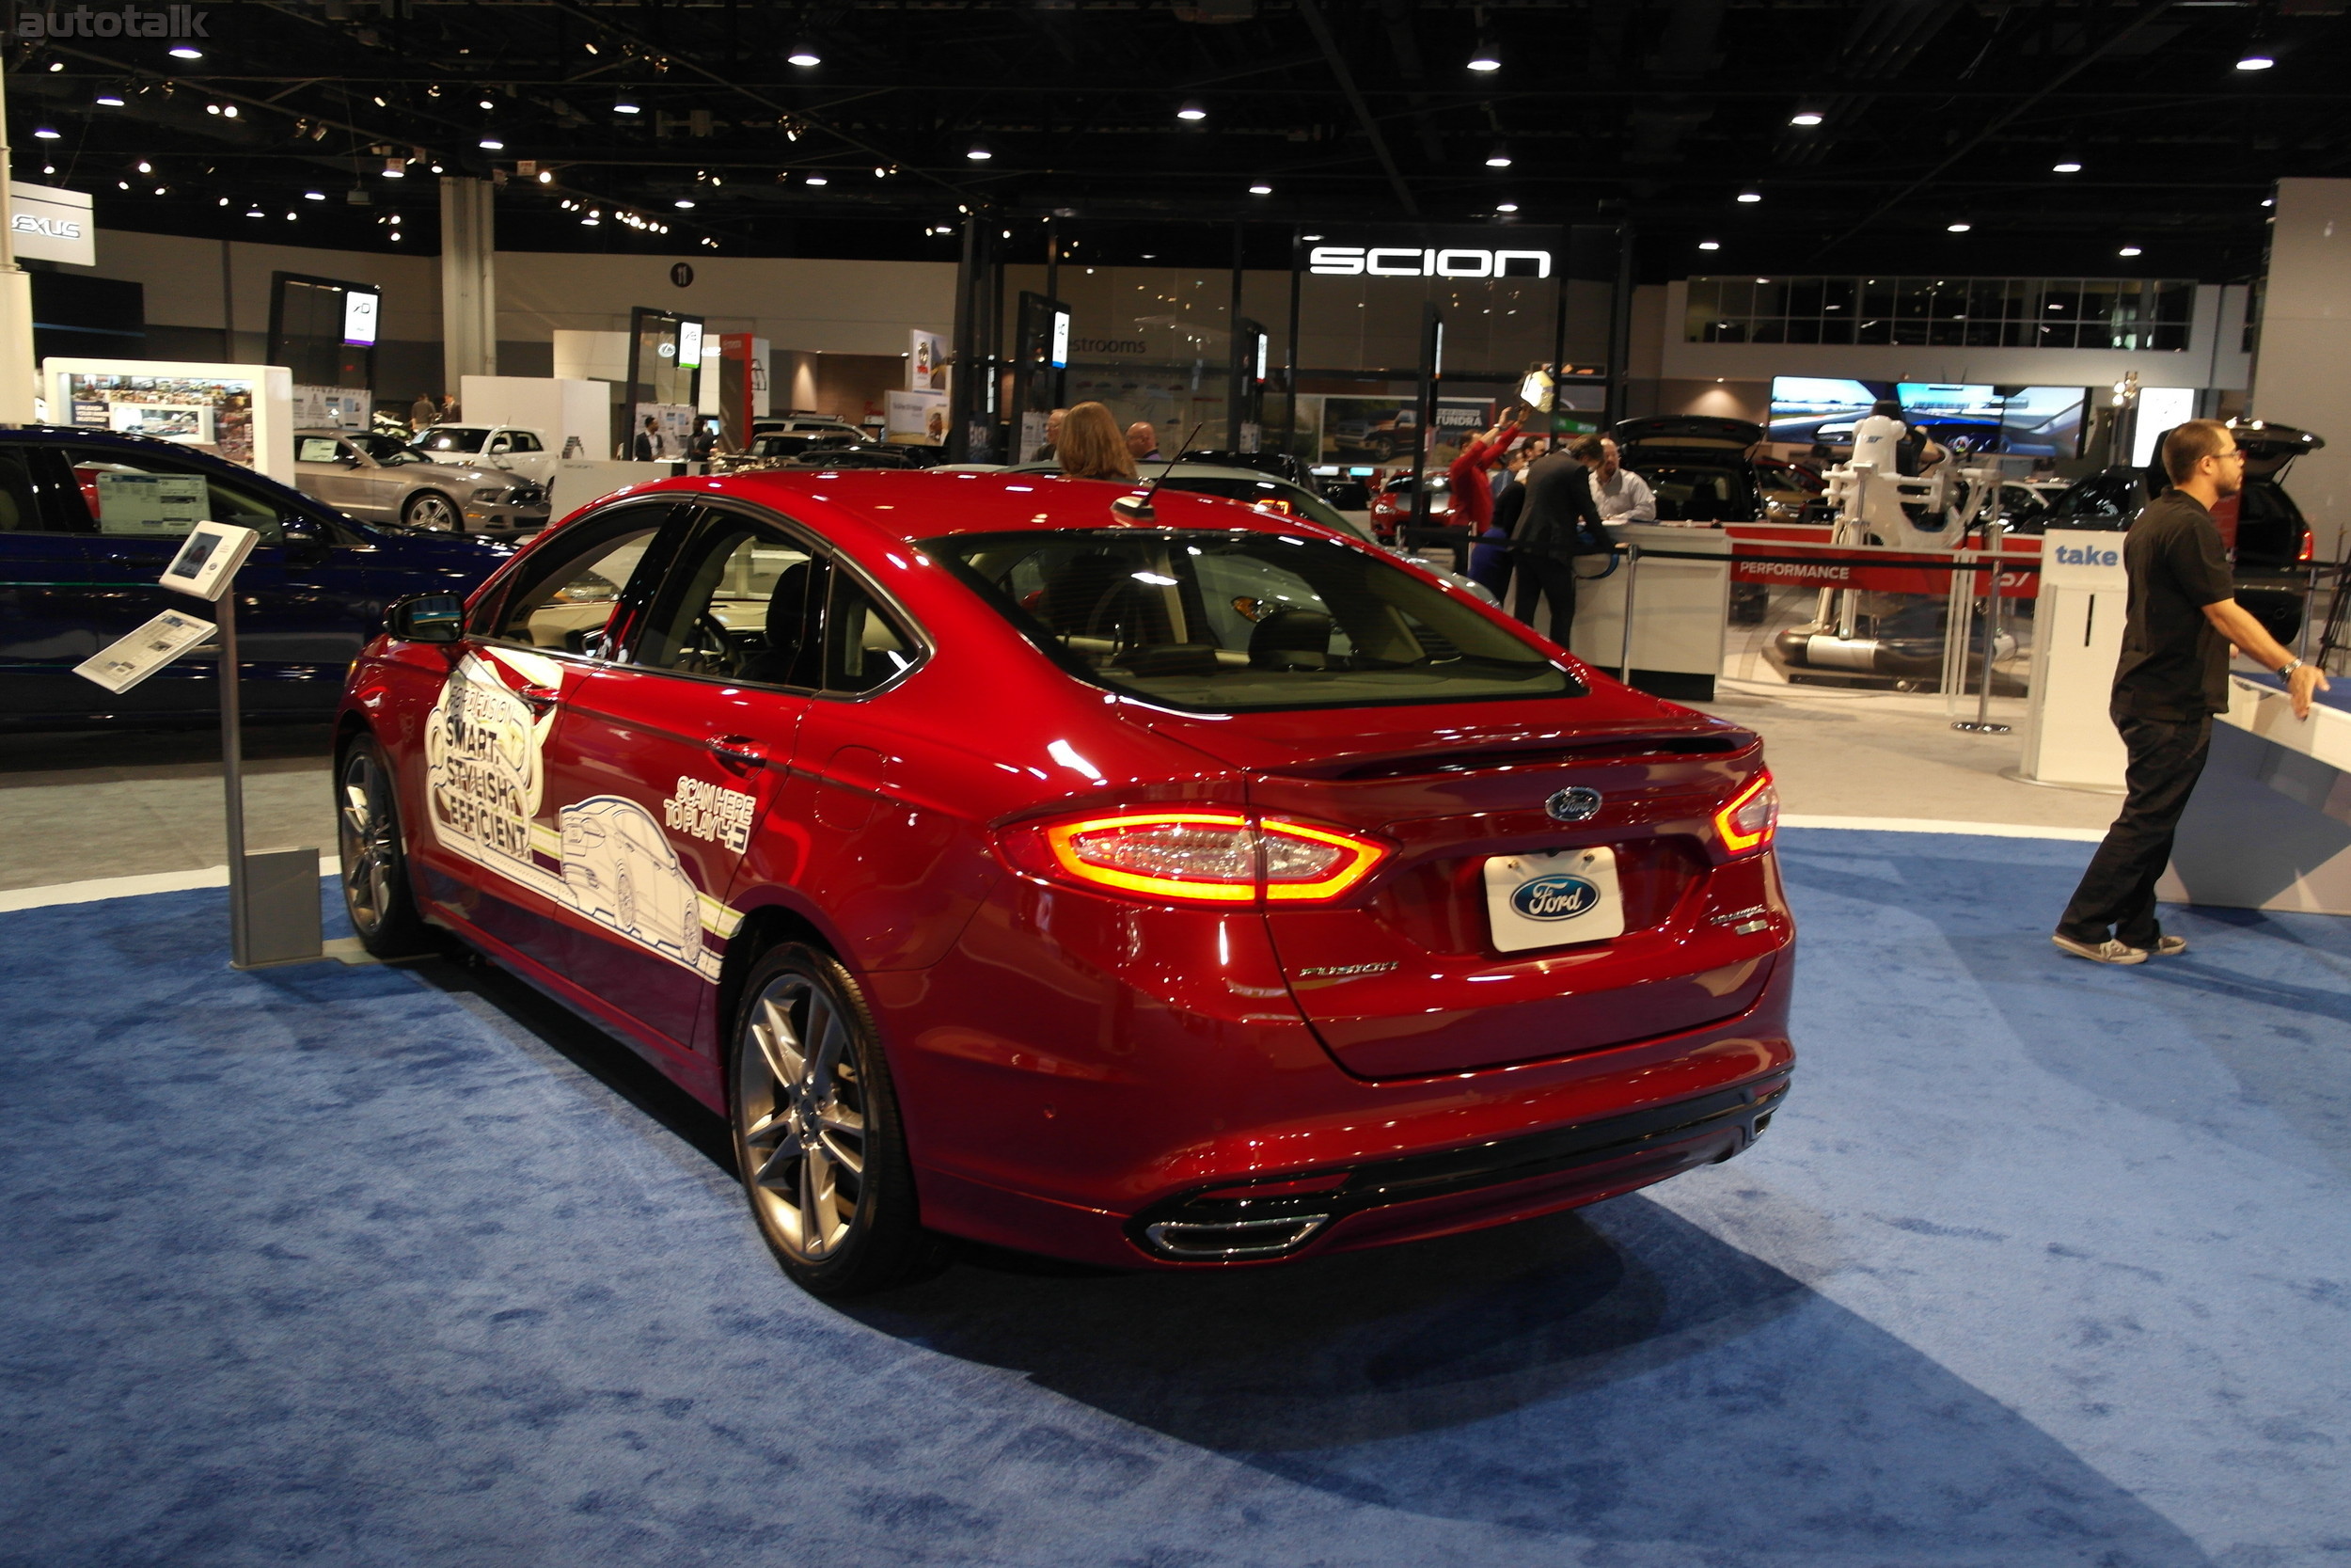
[(2210, 510), (2245, 477), (2229, 428), (2215, 418), (2179, 425), (2163, 442), (2163, 470), (2172, 489), (2139, 512), (2123, 541), (2130, 621), (2111, 712), (2130, 752), (2128, 797), (2050, 938), (2097, 964), (2186, 952), (2184, 936), (2163, 936), (2156, 924), (2156, 882), (2212, 748), (2212, 715), (2229, 708), (2229, 644), (2285, 677), (2299, 719), (2311, 717), (2311, 691), (2327, 686), (2316, 665), (2285, 651), (2236, 602)]

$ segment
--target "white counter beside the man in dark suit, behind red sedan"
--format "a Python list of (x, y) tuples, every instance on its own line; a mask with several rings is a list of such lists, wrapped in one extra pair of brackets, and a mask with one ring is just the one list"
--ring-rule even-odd
[(1721, 529), (1615, 522), (1608, 524), (1608, 538), (1622, 555), (1608, 576), (1575, 585), (1570, 651), (1653, 696), (1714, 701), (1714, 679), (1723, 672), (1723, 625), (1730, 618), (1730, 536)]

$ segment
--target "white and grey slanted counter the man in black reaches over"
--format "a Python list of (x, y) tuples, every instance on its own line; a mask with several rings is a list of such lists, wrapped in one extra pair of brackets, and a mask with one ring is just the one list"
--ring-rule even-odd
[(2156, 898), (2351, 914), (2351, 682), (2309, 719), (2280, 686), (2229, 677), (2229, 712), (2212, 722), (2212, 759)]

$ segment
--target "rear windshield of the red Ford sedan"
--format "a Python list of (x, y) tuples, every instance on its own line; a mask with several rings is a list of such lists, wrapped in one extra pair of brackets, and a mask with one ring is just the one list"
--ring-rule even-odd
[(964, 534), (924, 548), (1079, 679), (1168, 708), (1585, 691), (1460, 595), (1331, 538), (1065, 529)]

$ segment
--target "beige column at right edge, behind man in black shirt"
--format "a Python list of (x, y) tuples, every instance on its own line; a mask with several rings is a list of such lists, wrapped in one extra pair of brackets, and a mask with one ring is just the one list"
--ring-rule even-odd
[(2325, 437), (2323, 451), (2295, 458), (2288, 489), (2318, 559), (2339, 559), (2351, 534), (2351, 179), (2280, 179), (2276, 214), (2252, 414)]

